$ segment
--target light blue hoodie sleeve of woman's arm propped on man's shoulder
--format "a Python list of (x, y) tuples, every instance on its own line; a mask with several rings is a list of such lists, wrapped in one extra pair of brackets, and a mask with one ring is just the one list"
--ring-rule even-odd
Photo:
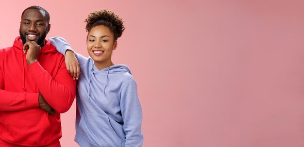
[(64, 39), (62, 37), (51, 37), (51, 38), (49, 38), (49, 41), (51, 42), (51, 44), (53, 46), (56, 47), (57, 51), (60, 52), (61, 54), (63, 54), (64, 56), (66, 55), (67, 50), (73, 51), (75, 54), (75, 57), (78, 60), (79, 65), (83, 65), (87, 61), (86, 57), (84, 57), (81, 54), (76, 53), (72, 49), (72, 47), (68, 44), (66, 39)]

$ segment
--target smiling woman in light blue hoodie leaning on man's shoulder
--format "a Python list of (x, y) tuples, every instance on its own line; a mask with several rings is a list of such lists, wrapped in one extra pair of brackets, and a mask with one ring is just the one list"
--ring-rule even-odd
[(113, 12), (101, 10), (89, 14), (85, 22), (89, 58), (74, 53), (63, 38), (49, 39), (65, 54), (74, 79), (80, 68), (75, 141), (81, 147), (141, 147), (142, 110), (136, 82), (128, 66), (114, 65), (111, 60), (125, 29), (123, 21)]

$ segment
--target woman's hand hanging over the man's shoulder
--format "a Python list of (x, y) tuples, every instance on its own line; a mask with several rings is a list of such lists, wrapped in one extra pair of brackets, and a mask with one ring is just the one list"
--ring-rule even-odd
[(65, 55), (66, 66), (68, 69), (68, 73), (71, 74), (72, 78), (78, 80), (80, 74), (80, 68), (78, 64), (78, 60), (75, 57), (75, 54), (71, 50), (66, 51)]

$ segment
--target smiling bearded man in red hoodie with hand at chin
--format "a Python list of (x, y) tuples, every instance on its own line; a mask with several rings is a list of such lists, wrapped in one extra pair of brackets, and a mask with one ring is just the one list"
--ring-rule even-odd
[(76, 82), (45, 40), (50, 28), (49, 13), (31, 6), (13, 47), (0, 49), (0, 147), (60, 147), (60, 113), (70, 108)]

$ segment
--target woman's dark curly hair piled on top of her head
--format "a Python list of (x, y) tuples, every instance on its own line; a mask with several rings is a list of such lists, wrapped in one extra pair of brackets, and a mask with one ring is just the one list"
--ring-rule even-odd
[(115, 15), (114, 12), (108, 11), (106, 9), (90, 13), (84, 22), (86, 22), (86, 32), (90, 32), (93, 27), (99, 25), (108, 27), (114, 34), (115, 40), (117, 40), (125, 30), (122, 19), (119, 16)]

